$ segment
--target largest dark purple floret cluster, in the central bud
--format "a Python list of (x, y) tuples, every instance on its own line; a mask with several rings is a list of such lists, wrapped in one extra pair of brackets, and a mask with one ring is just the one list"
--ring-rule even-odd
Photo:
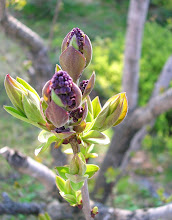
[(76, 105), (76, 95), (72, 89), (73, 80), (65, 71), (59, 70), (51, 79), (51, 88), (61, 99), (64, 106), (73, 109)]

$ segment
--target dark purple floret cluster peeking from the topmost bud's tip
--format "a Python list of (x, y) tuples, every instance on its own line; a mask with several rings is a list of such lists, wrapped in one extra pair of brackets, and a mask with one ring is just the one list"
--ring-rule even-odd
[(82, 32), (79, 28), (73, 28), (71, 32), (69, 32), (67, 46), (69, 46), (70, 41), (72, 40), (73, 36), (76, 36), (76, 41), (79, 47), (79, 51), (83, 53), (83, 46), (84, 46), (84, 32)]

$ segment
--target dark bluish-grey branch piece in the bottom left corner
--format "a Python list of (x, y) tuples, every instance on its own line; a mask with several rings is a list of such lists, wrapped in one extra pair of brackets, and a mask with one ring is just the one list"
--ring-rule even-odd
[(10, 214), (24, 214), (24, 215), (38, 215), (43, 211), (45, 204), (37, 203), (19, 203), (12, 201), (7, 193), (2, 193), (3, 201), (0, 203), (0, 215)]

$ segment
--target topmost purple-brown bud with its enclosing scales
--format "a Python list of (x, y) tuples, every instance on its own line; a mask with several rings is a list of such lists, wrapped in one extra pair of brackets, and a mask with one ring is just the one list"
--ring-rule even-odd
[(88, 36), (79, 28), (74, 28), (62, 43), (62, 54), (59, 57), (62, 69), (76, 82), (91, 58), (92, 46)]

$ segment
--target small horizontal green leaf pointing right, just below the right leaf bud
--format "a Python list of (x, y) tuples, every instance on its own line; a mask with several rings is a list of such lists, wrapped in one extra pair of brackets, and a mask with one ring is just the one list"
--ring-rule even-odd
[(109, 144), (109, 137), (99, 131), (89, 131), (82, 136), (82, 140), (93, 144)]

